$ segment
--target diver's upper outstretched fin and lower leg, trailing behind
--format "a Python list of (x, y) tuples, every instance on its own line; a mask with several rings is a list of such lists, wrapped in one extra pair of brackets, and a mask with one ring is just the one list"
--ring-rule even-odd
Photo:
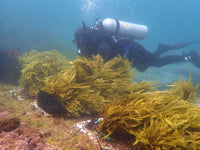
[(156, 51), (153, 53), (154, 56), (160, 56), (162, 53), (165, 53), (169, 50), (176, 50), (176, 49), (180, 49), (180, 48), (184, 48), (186, 46), (189, 46), (193, 43), (196, 43), (198, 40), (194, 40), (191, 42), (181, 42), (181, 43), (177, 43), (177, 44), (173, 44), (173, 45), (165, 45), (165, 44), (159, 44), (158, 48), (156, 49)]

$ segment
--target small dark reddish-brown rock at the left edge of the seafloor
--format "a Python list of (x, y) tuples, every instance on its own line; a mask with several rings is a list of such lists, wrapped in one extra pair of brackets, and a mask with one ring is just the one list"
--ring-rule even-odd
[(3, 119), (0, 121), (0, 132), (2, 131), (12, 131), (20, 125), (19, 118)]

